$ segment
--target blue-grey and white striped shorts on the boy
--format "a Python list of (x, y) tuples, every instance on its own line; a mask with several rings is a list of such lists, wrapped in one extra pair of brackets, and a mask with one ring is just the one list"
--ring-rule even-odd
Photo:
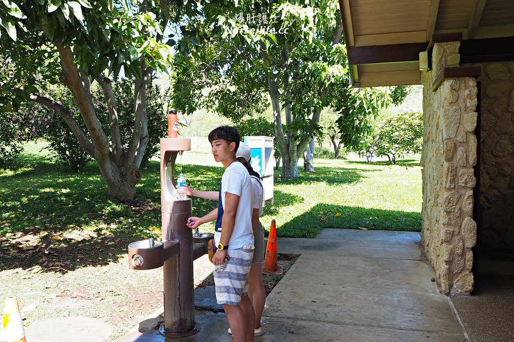
[(228, 261), (214, 268), (216, 302), (218, 304), (240, 305), (241, 297), (248, 295), (248, 273), (252, 265), (253, 245), (228, 250)]

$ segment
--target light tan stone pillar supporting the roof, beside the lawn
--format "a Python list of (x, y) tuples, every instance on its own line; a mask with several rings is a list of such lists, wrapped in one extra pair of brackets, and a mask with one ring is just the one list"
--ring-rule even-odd
[(432, 70), (424, 72), (425, 118), (423, 169), (423, 229), (421, 243), (443, 293), (473, 290), (473, 188), (476, 183), (477, 141), (474, 134), (477, 88), (474, 78), (432, 84), (444, 67), (458, 66), (460, 43), (435, 44)]

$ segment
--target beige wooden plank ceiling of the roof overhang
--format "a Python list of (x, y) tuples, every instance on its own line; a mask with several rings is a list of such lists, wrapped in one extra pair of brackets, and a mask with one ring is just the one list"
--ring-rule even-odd
[(480, 43), (514, 36), (514, 0), (339, 0), (339, 4), (355, 86), (419, 84), (417, 55), (433, 45), (434, 35), (457, 33), (463, 41)]

